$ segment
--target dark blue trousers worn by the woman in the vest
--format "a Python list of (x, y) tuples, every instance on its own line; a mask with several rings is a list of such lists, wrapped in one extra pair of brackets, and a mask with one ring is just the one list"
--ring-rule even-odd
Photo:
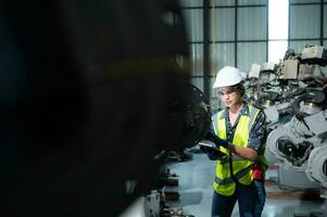
[(254, 217), (257, 203), (256, 184), (236, 183), (235, 193), (230, 196), (214, 191), (212, 200), (212, 217), (230, 217), (236, 202), (238, 202), (240, 217)]

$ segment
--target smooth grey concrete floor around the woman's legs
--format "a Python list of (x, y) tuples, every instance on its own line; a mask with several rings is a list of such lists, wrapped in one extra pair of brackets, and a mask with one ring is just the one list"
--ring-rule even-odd
[[(209, 161), (205, 154), (199, 153), (198, 149), (190, 150), (192, 159), (188, 162), (168, 163), (171, 174), (176, 174), (178, 187), (166, 187), (166, 190), (178, 191), (180, 197), (175, 202), (167, 202), (171, 208), (183, 208), (188, 215), (196, 217), (211, 216), (212, 182), (214, 178), (215, 162)], [(277, 175), (276, 169), (268, 169), (267, 179)], [(327, 217), (327, 201), (319, 197), (306, 196), (302, 191), (284, 191), (274, 181), (265, 182), (267, 201), (263, 217), (295, 217), (311, 215)], [(232, 217), (239, 216), (238, 206), (235, 206)]]

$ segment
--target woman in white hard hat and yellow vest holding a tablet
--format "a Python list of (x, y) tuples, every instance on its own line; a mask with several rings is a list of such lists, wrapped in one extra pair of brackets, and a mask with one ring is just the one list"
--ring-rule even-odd
[[(226, 66), (218, 72), (213, 86), (226, 105), (213, 115), (213, 132), (206, 136), (224, 153), (216, 157), (214, 217), (229, 217), (236, 202), (241, 217), (261, 216), (265, 203), (265, 117), (262, 111), (243, 102), (243, 78), (239, 69)], [(212, 153), (210, 158), (214, 158)]]

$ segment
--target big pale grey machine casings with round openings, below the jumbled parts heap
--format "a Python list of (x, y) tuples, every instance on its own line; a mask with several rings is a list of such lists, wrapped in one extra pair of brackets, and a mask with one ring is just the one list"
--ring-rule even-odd
[(291, 189), (320, 189), (327, 183), (327, 111), (293, 116), (267, 137), (267, 150), (278, 159), (278, 182)]

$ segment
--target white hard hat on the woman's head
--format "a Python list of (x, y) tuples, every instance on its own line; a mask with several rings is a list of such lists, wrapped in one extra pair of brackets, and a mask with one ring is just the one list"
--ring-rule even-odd
[(232, 66), (223, 67), (216, 76), (213, 88), (229, 87), (244, 80), (247, 74)]

